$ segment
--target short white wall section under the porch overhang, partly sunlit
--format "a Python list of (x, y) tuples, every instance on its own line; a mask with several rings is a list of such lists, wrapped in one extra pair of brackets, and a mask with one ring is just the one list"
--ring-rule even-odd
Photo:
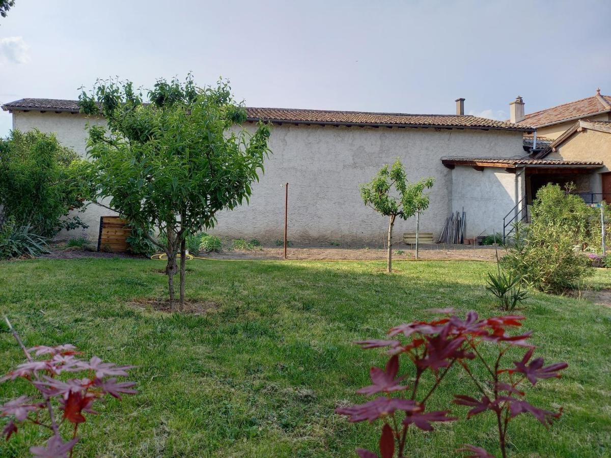
[[(465, 237), (503, 233), (503, 217), (516, 205), (516, 173), (456, 165), (452, 173), (452, 211), (466, 213)], [(524, 173), (518, 172), (518, 201), (524, 196)]]

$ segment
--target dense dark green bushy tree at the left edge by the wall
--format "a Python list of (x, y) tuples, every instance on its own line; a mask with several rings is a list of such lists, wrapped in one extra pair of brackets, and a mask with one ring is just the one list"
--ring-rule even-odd
[(0, 227), (13, 219), (16, 227), (46, 238), (86, 227), (69, 215), (84, 209), (86, 163), (53, 134), (14, 130), (0, 139)]

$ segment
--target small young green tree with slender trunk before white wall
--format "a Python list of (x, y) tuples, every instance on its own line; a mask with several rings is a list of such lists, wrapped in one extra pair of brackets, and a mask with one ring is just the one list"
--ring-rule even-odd
[(365, 205), (389, 217), (388, 272), (392, 272), (392, 227), (395, 220), (397, 217), (406, 220), (428, 208), (429, 198), (424, 191), (433, 187), (434, 181), (434, 178), (423, 178), (417, 183), (408, 183), (403, 164), (397, 159), (390, 170), (385, 164), (369, 183), (360, 185), (360, 197)]

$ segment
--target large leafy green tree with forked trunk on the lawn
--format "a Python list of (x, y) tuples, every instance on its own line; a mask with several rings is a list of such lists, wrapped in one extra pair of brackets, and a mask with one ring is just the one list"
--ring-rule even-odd
[[(81, 110), (101, 112), (108, 131), (90, 126), (88, 148), (96, 198), (139, 227), (167, 255), (170, 307), (180, 252), (180, 303), (185, 301), (186, 238), (214, 227), (216, 214), (248, 202), (251, 185), (269, 153), (269, 128), (254, 133), (234, 126), (246, 120), (228, 82), (198, 88), (186, 81), (159, 79), (150, 103), (131, 82), (98, 81), (82, 92)], [(149, 234), (156, 228), (159, 239)]]

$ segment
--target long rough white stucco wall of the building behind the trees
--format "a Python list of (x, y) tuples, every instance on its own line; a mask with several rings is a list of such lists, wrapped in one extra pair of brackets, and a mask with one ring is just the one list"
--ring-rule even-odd
[[(55, 132), (62, 144), (85, 155), (86, 118), (82, 115), (14, 112), (13, 119), (17, 129), (38, 128)], [(95, 122), (102, 123), (103, 120)], [(246, 128), (254, 129), (254, 124), (247, 123)], [(392, 163), (399, 157), (406, 166), (409, 180), (425, 176), (433, 176), (436, 180), (431, 190), (430, 208), (420, 217), (420, 230), (437, 235), (450, 209), (463, 205), (462, 200), (452, 202), (453, 181), (463, 179), (461, 173), (456, 178), (459, 167), (449, 170), (442, 165), (440, 158), (518, 156), (522, 153), (522, 133), (282, 124), (274, 126), (269, 147), (273, 154), (265, 162), (265, 174), (253, 187), (250, 205), (219, 214), (218, 225), (211, 232), (228, 238), (258, 238), (262, 241), (282, 238), (283, 185), (288, 181), (289, 239), (295, 242), (340, 241), (344, 245), (365, 239), (381, 243), (387, 230), (386, 218), (363, 205), (358, 185), (370, 180), (385, 162)], [(477, 178), (487, 176), (488, 172), (485, 175), (475, 173), (465, 176), (468, 183), (464, 186), (469, 186), (470, 192), (464, 194), (464, 188), (457, 188), (460, 195), (485, 196), (490, 192), (492, 182), (486, 184), (484, 191), (477, 191), (481, 186)], [(493, 205), (489, 203), (489, 206)], [(500, 213), (502, 211), (488, 212), (485, 217), (496, 217)], [(100, 216), (106, 214), (111, 212), (95, 206), (87, 210), (84, 219), (89, 224), (88, 232), (92, 239), (97, 239)], [(467, 224), (474, 228), (481, 226), (479, 223), (475, 225), (475, 214), (474, 209), (467, 215)], [(397, 239), (401, 238), (401, 233), (414, 230), (413, 218), (395, 224)]]

